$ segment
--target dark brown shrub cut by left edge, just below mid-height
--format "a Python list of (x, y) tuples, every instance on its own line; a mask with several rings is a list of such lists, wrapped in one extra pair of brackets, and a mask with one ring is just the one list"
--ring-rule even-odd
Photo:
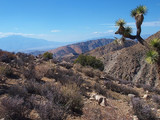
[(0, 75), (6, 76), (6, 77), (12, 77), (13, 71), (9, 66), (0, 66)]

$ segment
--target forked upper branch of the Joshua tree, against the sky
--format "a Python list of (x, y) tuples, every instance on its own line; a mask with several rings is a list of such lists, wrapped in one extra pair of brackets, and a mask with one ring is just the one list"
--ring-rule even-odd
[(147, 45), (145, 44), (144, 39), (140, 36), (141, 25), (143, 23), (144, 15), (146, 14), (146, 12), (147, 8), (142, 5), (138, 6), (137, 8), (131, 11), (131, 16), (134, 17), (136, 20), (136, 27), (137, 27), (136, 35), (131, 35), (132, 28), (126, 27), (125, 26), (126, 22), (123, 19), (119, 19), (118, 21), (116, 21), (116, 26), (119, 26), (119, 29), (115, 32), (115, 34), (122, 35), (122, 38), (120, 39), (122, 43), (125, 41), (125, 38), (130, 38), (130, 39), (137, 39), (142, 45)]

